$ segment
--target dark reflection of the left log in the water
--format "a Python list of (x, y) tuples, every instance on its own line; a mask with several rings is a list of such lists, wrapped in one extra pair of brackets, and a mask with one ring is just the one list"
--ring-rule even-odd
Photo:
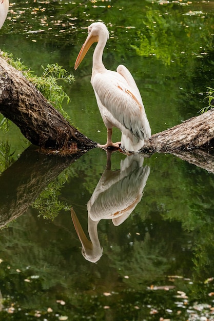
[(1, 176), (0, 228), (22, 215), (44, 188), (82, 153), (47, 156), (30, 146)]

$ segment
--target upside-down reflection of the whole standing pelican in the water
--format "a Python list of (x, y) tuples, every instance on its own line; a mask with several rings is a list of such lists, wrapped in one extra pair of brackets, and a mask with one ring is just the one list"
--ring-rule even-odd
[(71, 209), (73, 224), (83, 247), (82, 254), (90, 262), (97, 262), (103, 253), (97, 231), (100, 220), (112, 219), (118, 226), (140, 202), (149, 176), (149, 167), (142, 167), (143, 160), (139, 154), (134, 154), (121, 161), (121, 170), (113, 172), (107, 168), (104, 171), (87, 204), (90, 241)]

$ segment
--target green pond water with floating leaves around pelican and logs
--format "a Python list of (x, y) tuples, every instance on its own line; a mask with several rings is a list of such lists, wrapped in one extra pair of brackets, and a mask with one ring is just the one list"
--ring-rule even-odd
[[(152, 133), (207, 105), (214, 1), (28, 1), (10, 9), (0, 48), (38, 75), (48, 63), (74, 74), (75, 83), (64, 87), (71, 98), (65, 109), (96, 142), (105, 143), (106, 128), (90, 85), (93, 49), (73, 69), (92, 21), (108, 26), (104, 64), (131, 71)], [(1, 224), (12, 221), (0, 233), (0, 320), (212, 319), (213, 174), (168, 154), (143, 160), (115, 152), (111, 171), (97, 148), (57, 159), (28, 147), (12, 124), (0, 140), (1, 170), (7, 168), (0, 176)], [(137, 200), (129, 211), (130, 195)], [(97, 221), (96, 264), (82, 255), (70, 213), (72, 207), (89, 237), (87, 204), (94, 199), (107, 202), (108, 214), (127, 199), (123, 223), (107, 215)]]

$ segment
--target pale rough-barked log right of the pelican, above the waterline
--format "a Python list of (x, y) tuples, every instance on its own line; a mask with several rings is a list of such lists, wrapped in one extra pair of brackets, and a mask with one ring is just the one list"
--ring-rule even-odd
[(214, 146), (214, 108), (151, 136), (142, 152), (176, 152)]

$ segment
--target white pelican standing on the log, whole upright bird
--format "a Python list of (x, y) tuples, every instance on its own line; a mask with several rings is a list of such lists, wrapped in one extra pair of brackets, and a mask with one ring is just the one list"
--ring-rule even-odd
[[(107, 142), (98, 145), (102, 148), (119, 148), (128, 152), (138, 152), (144, 146), (144, 139), (151, 136), (139, 89), (129, 70), (119, 65), (116, 71), (105, 68), (102, 56), (109, 32), (105, 24), (92, 23), (88, 27), (88, 36), (76, 58), (76, 70), (90, 46), (97, 42), (93, 53), (91, 85), (103, 122), (107, 128)], [(121, 142), (112, 143), (112, 127), (122, 132)]]

